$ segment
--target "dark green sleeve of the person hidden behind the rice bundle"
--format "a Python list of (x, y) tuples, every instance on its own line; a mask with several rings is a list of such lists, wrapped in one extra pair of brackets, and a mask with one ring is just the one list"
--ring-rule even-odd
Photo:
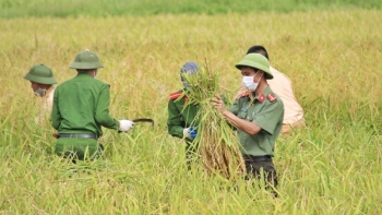
[(180, 120), (180, 112), (174, 100), (168, 101), (167, 129), (172, 136), (183, 138), (183, 123)]

